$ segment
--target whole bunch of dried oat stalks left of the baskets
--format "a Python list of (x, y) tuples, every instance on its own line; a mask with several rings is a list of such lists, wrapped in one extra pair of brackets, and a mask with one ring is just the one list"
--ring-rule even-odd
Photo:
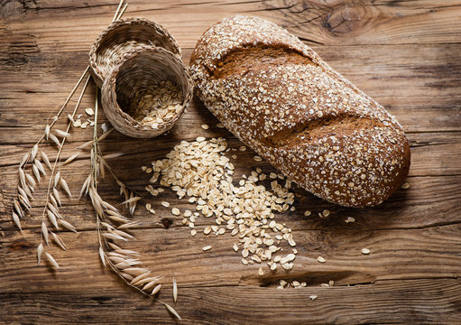
[[(124, 0), (121, 0), (115, 12), (113, 21), (121, 18), (126, 7), (127, 4), (124, 4)], [(12, 217), (14, 224), (20, 231), (23, 231), (21, 218), (24, 218), (26, 211), (30, 210), (32, 207), (31, 200), (33, 200), (33, 192), (36, 186), (46, 177), (49, 177), (47, 198), (43, 207), (41, 218), (41, 242), (37, 246), (37, 265), (41, 264), (41, 260), (44, 255), (50, 265), (54, 268), (60, 268), (56, 259), (50, 253), (45, 252), (45, 246), (49, 246), (52, 240), (61, 249), (67, 250), (68, 247), (57, 234), (56, 230), (66, 228), (70, 231), (77, 232), (77, 229), (69, 223), (69, 221), (62, 218), (60, 214), (60, 190), (69, 197), (71, 197), (71, 192), (67, 182), (60, 173), (59, 167), (61, 165), (72, 163), (78, 157), (79, 153), (74, 153), (63, 163), (60, 163), (60, 154), (67, 138), (70, 136), (69, 130), (71, 126), (80, 126), (78, 124), (78, 120), (76, 121), (74, 117), (78, 110), (81, 98), (83, 98), (83, 95), (85, 94), (89, 77), (83, 86), (76, 107), (74, 108), (72, 114), (68, 114), (69, 123), (67, 129), (65, 131), (53, 129), (53, 126), (60, 119), (62, 112), (69, 103), (69, 99), (74, 95), (81, 81), (87, 75), (88, 70), (89, 66), (83, 72), (80, 79), (78, 79), (77, 84), (70, 92), (69, 97), (66, 99), (63, 106), (60, 107), (58, 113), (52, 117), (51, 123), (45, 126), (43, 135), (41, 135), (39, 141), (32, 146), (31, 151), (23, 155), (23, 159), (19, 164), (17, 196), (13, 201)], [(128, 231), (130, 228), (134, 228), (138, 224), (132, 222), (129, 218), (125, 218), (118, 209), (103, 200), (97, 192), (97, 179), (99, 176), (104, 177), (105, 171), (108, 170), (120, 187), (120, 193), (124, 196), (123, 204), (126, 205), (130, 214), (133, 215), (136, 203), (141, 199), (137, 196), (134, 190), (131, 190), (124, 184), (123, 181), (120, 181), (115, 176), (115, 173), (112, 171), (108, 163), (106, 163), (107, 159), (115, 158), (121, 153), (112, 153), (106, 156), (103, 156), (102, 153), (100, 153), (98, 142), (106, 138), (112, 130), (107, 131), (104, 135), (97, 138), (97, 101), (94, 114), (95, 121), (92, 123), (94, 125), (94, 138), (90, 142), (80, 145), (78, 150), (91, 148), (91, 173), (88, 175), (87, 180), (84, 181), (82, 190), (80, 191), (80, 196), (83, 194), (88, 195), (96, 210), (99, 255), (103, 265), (113, 270), (115, 274), (118, 274), (125, 283), (134, 287), (138, 291), (143, 292), (143, 294), (155, 297), (161, 290), (161, 283), (159, 283), (161, 276), (154, 276), (149, 270), (144, 268), (142, 266), (142, 262), (139, 260), (139, 254), (137, 252), (123, 249), (117, 245), (118, 242), (134, 239)], [(83, 125), (81, 126), (83, 127)], [(43, 140), (56, 144), (59, 149), (54, 163), (51, 163), (48, 155), (40, 149)], [(27, 170), (28, 166), (30, 166), (30, 170)], [(51, 172), (50, 175), (48, 174), (47, 169)], [(53, 228), (55, 231), (51, 231)], [(43, 245), (43, 242), (45, 245)], [(175, 297), (176, 296), (177, 287), (175, 285)], [(155, 300), (161, 302), (160, 300)], [(161, 302), (161, 304), (165, 306), (171, 315), (180, 319), (178, 312), (175, 311), (169, 304), (165, 302)]]

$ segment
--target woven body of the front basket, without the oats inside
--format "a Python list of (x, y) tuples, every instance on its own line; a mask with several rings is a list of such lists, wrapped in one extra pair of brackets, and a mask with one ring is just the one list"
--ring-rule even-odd
[[(128, 114), (132, 101), (139, 91), (165, 80), (180, 89), (180, 111), (155, 128), (140, 124)], [(115, 129), (124, 135), (149, 138), (171, 129), (188, 107), (192, 91), (188, 70), (177, 55), (160, 47), (140, 45), (123, 55), (104, 82), (101, 96), (106, 116)]]

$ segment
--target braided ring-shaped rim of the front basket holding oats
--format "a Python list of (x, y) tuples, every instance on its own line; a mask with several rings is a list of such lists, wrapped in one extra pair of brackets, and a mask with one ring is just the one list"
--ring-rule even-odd
[[(176, 114), (170, 121), (159, 124), (158, 127), (155, 129), (153, 129), (152, 126), (140, 124), (132, 116), (125, 113), (122, 107), (118, 105), (118, 102), (116, 100), (115, 80), (116, 80), (118, 73), (120, 72), (120, 68), (124, 65), (126, 61), (133, 60), (136, 56), (146, 51), (162, 52), (165, 55), (170, 56), (171, 59), (174, 60), (179, 65), (180, 70), (186, 76), (186, 79), (188, 80), (188, 84), (189, 84), (189, 92), (186, 93), (186, 96), (184, 96), (184, 99), (182, 100), (180, 113)], [(175, 55), (173, 52), (168, 51), (158, 46), (138, 45), (134, 47), (133, 49), (126, 51), (126, 53), (124, 53), (123, 59), (117, 65), (115, 65), (115, 67), (110, 71), (109, 76), (104, 81), (102, 88), (103, 88), (103, 92), (108, 91), (112, 93), (113, 101), (115, 103), (115, 113), (122, 116), (124, 118), (124, 121), (129, 123), (135, 129), (137, 129), (137, 131), (142, 131), (142, 132), (145, 132), (146, 134), (161, 135), (161, 133), (169, 130), (171, 126), (174, 125), (178, 119), (180, 119), (180, 116), (182, 116), (182, 114), (186, 112), (186, 109), (189, 106), (190, 100), (193, 97), (194, 83), (189, 75), (189, 70), (186, 68), (182, 60), (180, 60), (180, 58), (177, 55)], [(108, 107), (103, 107), (103, 108), (108, 109)]]

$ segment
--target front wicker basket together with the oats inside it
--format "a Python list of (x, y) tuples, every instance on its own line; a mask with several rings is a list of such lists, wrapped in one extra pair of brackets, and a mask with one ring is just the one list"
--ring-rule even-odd
[(171, 129), (192, 98), (188, 70), (171, 51), (140, 46), (127, 52), (101, 90), (109, 121), (124, 135), (150, 138)]

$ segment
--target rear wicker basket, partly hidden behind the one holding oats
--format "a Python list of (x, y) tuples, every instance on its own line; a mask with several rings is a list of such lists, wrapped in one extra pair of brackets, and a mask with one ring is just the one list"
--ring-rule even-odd
[(125, 52), (140, 45), (158, 46), (180, 57), (180, 46), (171, 33), (143, 18), (127, 18), (111, 23), (89, 51), (89, 67), (99, 88)]

